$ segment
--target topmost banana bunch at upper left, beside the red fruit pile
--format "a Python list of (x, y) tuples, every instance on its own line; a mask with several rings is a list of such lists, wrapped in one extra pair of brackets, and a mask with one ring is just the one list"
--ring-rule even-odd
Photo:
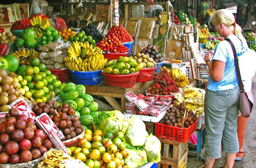
[(35, 37), (41, 38), (43, 36), (43, 30), (51, 26), (48, 18), (36, 16), (30, 19), (31, 28), (35, 30)]

